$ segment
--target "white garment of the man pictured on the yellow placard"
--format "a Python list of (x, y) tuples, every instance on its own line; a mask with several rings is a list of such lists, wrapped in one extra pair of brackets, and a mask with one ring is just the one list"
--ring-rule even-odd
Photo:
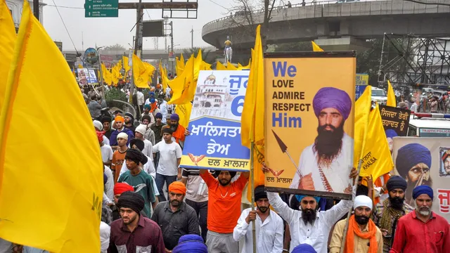
[[(323, 186), (321, 174), (319, 172), (319, 164), (317, 164), (316, 152), (314, 151), (314, 144), (307, 146), (300, 155), (299, 169), (303, 175), (311, 173), (314, 181), (315, 190), (326, 191)], [(344, 133), (342, 136), (342, 148), (338, 157), (333, 160), (330, 167), (323, 167), (323, 174), (326, 176), (328, 183), (330, 183), (333, 192), (343, 193), (345, 188), (351, 184), (352, 179), (349, 179), (350, 171), (353, 167), (353, 138)], [(300, 183), (300, 174), (295, 172), (293, 183), (290, 188), (297, 189)]]

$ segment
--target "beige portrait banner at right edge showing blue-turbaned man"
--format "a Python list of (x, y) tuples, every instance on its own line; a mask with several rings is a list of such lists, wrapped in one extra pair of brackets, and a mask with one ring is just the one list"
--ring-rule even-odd
[(394, 174), (408, 182), (405, 202), (414, 207), (413, 189), (431, 186), (432, 212), (450, 221), (450, 138), (396, 137), (392, 157)]

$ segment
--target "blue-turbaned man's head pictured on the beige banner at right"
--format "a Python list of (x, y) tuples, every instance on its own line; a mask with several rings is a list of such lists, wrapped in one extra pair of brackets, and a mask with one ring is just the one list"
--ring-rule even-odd
[(408, 182), (405, 200), (412, 204), (411, 189), (416, 186), (432, 186), (430, 177), (431, 153), (428, 148), (419, 143), (410, 143), (399, 148), (395, 167), (399, 175)]

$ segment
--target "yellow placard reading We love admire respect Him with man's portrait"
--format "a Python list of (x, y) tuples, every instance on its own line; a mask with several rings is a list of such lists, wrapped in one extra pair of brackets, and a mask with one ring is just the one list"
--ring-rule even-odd
[(350, 199), (354, 51), (265, 53), (268, 190)]

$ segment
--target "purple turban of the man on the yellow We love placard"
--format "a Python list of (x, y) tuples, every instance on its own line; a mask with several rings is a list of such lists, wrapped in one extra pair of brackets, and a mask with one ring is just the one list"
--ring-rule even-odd
[(347, 119), (352, 110), (352, 99), (345, 91), (333, 87), (323, 87), (314, 96), (312, 107), (316, 117), (319, 117), (325, 108), (335, 108), (344, 119)]

